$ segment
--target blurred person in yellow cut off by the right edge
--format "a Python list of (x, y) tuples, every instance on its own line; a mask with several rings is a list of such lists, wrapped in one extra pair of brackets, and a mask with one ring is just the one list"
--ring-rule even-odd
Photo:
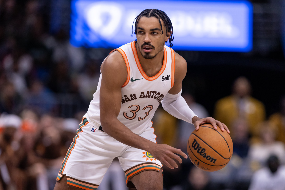
[(285, 143), (285, 96), (280, 100), (280, 111), (270, 115), (269, 120), (277, 126), (276, 140)]

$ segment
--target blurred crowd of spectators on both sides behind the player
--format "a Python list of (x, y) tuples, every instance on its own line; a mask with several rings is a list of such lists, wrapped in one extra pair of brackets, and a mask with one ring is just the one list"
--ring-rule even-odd
[[(100, 64), (110, 52), (75, 48), (68, 28), (51, 27), (48, 12), (58, 2), (0, 0), (0, 190), (53, 189), (96, 91)], [(231, 161), (215, 172), (194, 167), (190, 159), (176, 169), (164, 167), (165, 190), (285, 189), (285, 97), (280, 111), (267, 117), (264, 104), (251, 96), (246, 77), (237, 78), (232, 87), (211, 115), (231, 131)], [(210, 116), (183, 89), (194, 113)], [(192, 124), (161, 107), (153, 121), (158, 143), (187, 152)], [(124, 177), (114, 160), (98, 189), (126, 189)]]

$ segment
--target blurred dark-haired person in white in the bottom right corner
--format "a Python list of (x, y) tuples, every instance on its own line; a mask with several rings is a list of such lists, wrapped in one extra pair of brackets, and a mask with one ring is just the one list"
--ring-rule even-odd
[(271, 155), (266, 162), (266, 167), (253, 174), (249, 190), (284, 190), (285, 166), (281, 166), (278, 157)]

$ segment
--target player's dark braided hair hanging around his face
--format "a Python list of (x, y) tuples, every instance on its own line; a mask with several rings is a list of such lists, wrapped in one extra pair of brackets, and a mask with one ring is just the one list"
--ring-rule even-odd
[[(134, 34), (137, 34), (137, 25), (138, 25), (139, 20), (141, 19), (141, 17), (147, 17), (147, 18), (156, 17), (158, 19), (158, 21), (159, 21), (159, 24), (160, 24), (161, 34), (163, 34), (162, 24), (161, 24), (161, 21), (160, 21), (160, 19), (161, 19), (164, 22), (166, 31), (170, 32), (170, 30), (171, 30), (170, 38), (169, 38), (168, 41), (169, 41), (169, 46), (170, 47), (173, 46), (173, 44), (171, 43), (171, 41), (174, 40), (174, 37), (173, 37), (173, 26), (172, 26), (172, 23), (171, 23), (169, 17), (166, 15), (166, 13), (164, 13), (164, 11), (161, 11), (161, 10), (158, 10), (158, 9), (145, 9), (145, 10), (143, 10), (134, 20), (134, 22), (136, 21), (135, 22)], [(133, 22), (133, 25), (134, 25), (134, 22)], [(166, 36), (168, 37), (168, 33), (166, 33)], [(133, 37), (133, 26), (132, 26), (132, 37)]]

